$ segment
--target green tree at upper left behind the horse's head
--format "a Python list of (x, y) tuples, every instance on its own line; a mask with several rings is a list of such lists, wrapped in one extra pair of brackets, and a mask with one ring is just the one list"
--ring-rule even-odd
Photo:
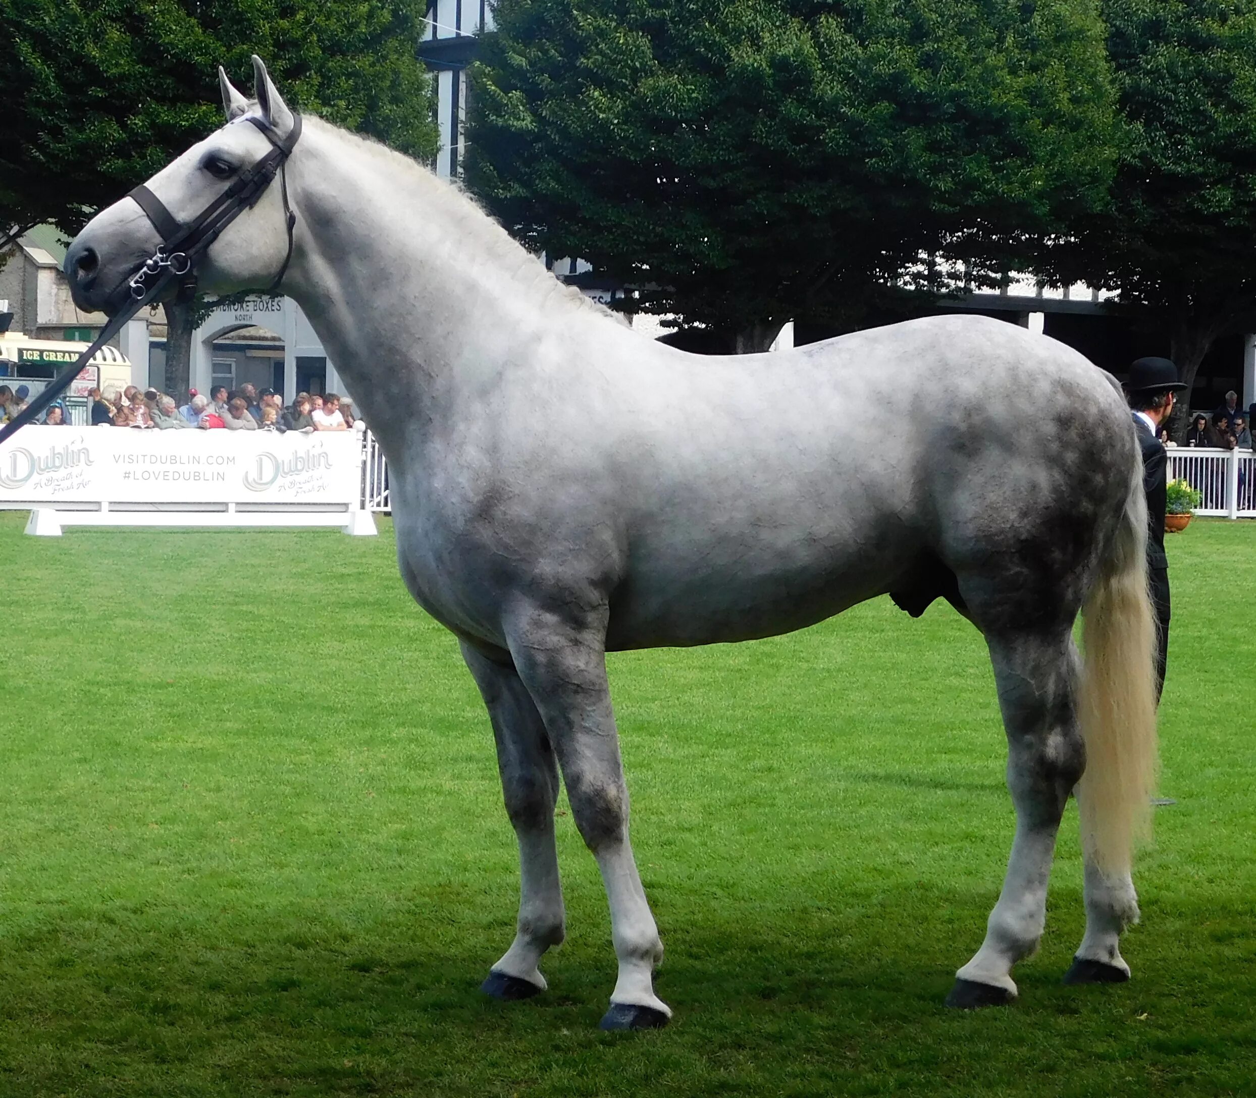
[[(423, 0), (0, 0), (0, 226), (74, 236), (221, 124), (217, 65), (242, 80), (254, 53), (288, 102), (433, 156), (414, 55), (425, 13)], [(187, 389), (193, 309), (167, 309), (171, 393)]]

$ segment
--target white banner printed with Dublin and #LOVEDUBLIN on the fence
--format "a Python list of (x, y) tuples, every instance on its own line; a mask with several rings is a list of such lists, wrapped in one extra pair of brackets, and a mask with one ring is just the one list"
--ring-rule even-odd
[(41, 427), (0, 447), (0, 507), (58, 503), (357, 506), (354, 432)]

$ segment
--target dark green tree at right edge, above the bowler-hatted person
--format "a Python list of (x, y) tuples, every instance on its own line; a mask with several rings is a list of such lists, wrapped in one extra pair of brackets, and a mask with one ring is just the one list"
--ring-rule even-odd
[(1256, 3), (1105, 0), (1104, 16), (1123, 133), (1112, 201), (1041, 266), (1163, 324), (1193, 386), (1217, 336), (1256, 322)]

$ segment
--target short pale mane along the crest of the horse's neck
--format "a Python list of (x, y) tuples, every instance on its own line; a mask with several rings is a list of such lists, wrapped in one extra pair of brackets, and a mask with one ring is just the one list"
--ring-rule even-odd
[(458, 183), (442, 179), (431, 168), (404, 153), (388, 148), (372, 137), (340, 129), (318, 115), (306, 114), (303, 118), (334, 133), (353, 146), (354, 151), (383, 163), (393, 178), (411, 178), (418, 186), (435, 188), (443, 200), (442, 216), (452, 216), (457, 222), (455, 227), (458, 238), (476, 241), (482, 253), (490, 260), (496, 260), (501, 265), (501, 270), (520, 287), (539, 291), (546, 302), (553, 301), (568, 307), (590, 310), (614, 320), (617, 324), (627, 324), (622, 314), (607, 309), (582, 294), (575, 286), (568, 286), (560, 281), (536, 256), (506, 232), (492, 215), (481, 208), (480, 203), (467, 195)]

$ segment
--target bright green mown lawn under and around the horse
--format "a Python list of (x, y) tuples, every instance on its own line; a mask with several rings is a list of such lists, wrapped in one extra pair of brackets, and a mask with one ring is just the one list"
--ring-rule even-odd
[[(1134, 981), (1064, 988), (1076, 814), (1020, 1001), (948, 1011), (1012, 813), (980, 636), (887, 600), (610, 660), (671, 1028), (603, 1034), (602, 886), (481, 996), (517, 870), (492, 738), (392, 530), (70, 531), (0, 512), (0, 1095), (1256, 1093), (1256, 523), (1169, 540)], [(565, 812), (565, 809), (564, 809)]]

